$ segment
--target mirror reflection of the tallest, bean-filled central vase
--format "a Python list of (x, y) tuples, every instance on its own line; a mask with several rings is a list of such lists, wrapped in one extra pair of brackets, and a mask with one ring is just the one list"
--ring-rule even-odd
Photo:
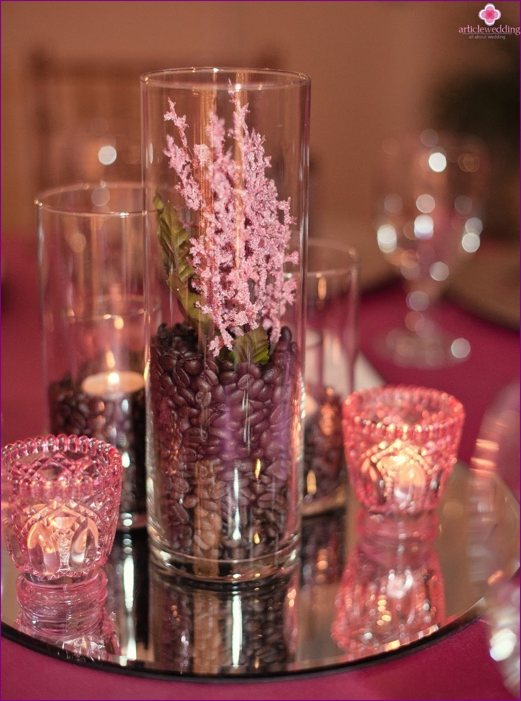
[(150, 570), (149, 629), (162, 669), (263, 674), (295, 658), (299, 568), (262, 583), (194, 586)]

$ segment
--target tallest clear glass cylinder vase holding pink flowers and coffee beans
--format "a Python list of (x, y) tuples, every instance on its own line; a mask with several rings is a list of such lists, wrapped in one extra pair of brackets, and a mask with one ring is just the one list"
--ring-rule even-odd
[(309, 94), (267, 70), (142, 76), (151, 554), (193, 578), (297, 557)]

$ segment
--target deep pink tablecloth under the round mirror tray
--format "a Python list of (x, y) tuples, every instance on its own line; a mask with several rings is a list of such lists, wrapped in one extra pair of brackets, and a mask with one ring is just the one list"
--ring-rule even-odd
[[(2, 444), (41, 432), (41, 340), (35, 245), (2, 237), (1, 391)], [(471, 341), (471, 357), (443, 370), (405, 370), (381, 360), (374, 334), (401, 319), (400, 287), (365, 295), (360, 313), (360, 347), (390, 383), (433, 386), (464, 403), (467, 421), (461, 458), (471, 456), (480, 421), (497, 391), (519, 375), (519, 338), (445, 303), (448, 330)], [(517, 470), (517, 465), (513, 466)], [(3, 699), (510, 699), (487, 653), (485, 624), (476, 621), (412, 653), (378, 665), (305, 678), (248, 683), (156, 681), (99, 672), (60, 662), (1, 641)]]

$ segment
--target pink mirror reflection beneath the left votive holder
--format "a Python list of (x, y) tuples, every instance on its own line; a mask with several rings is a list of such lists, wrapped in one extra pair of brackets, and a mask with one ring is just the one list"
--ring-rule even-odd
[(15, 627), (32, 638), (91, 660), (119, 655), (114, 620), (107, 613), (107, 577), (49, 585), (23, 575), (17, 580), (20, 613)]

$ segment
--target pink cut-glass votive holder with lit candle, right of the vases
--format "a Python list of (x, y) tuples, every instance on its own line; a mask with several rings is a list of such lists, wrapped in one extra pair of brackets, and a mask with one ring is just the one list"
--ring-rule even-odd
[(373, 513), (433, 510), (456, 463), (465, 411), (434, 389), (377, 387), (354, 392), (342, 407), (349, 478)]

